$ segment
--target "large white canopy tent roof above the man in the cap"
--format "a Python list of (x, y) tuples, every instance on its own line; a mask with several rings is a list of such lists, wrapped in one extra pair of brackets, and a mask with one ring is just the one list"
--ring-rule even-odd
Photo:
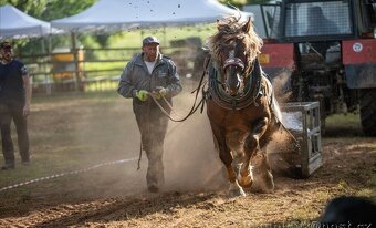
[[(189, 25), (216, 22), (239, 12), (217, 0), (100, 0), (87, 10), (52, 25), (71, 32), (112, 31), (134, 28)], [(242, 17), (252, 17), (241, 12)]]

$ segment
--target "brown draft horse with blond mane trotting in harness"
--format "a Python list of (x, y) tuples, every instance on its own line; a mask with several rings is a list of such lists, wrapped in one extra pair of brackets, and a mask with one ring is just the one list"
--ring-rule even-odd
[(242, 188), (253, 182), (259, 190), (270, 193), (274, 182), (264, 148), (280, 127), (281, 112), (257, 59), (262, 40), (250, 19), (241, 22), (230, 17), (217, 27), (208, 40), (207, 114), (227, 168), (230, 195), (244, 196)]

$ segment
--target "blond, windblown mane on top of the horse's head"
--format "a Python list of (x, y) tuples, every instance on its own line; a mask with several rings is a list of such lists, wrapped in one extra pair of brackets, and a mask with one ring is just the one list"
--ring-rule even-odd
[[(217, 21), (218, 32), (208, 39), (208, 46), (211, 56), (219, 61), (221, 44), (227, 40), (231, 39), (244, 39), (244, 44), (247, 45), (247, 55), (249, 56), (249, 62), (253, 60), (260, 53), (262, 46), (262, 39), (255, 33), (253, 29), (253, 23), (250, 21), (249, 30), (244, 31), (247, 21), (240, 21), (240, 17), (230, 15)], [(248, 64), (250, 65), (250, 64)]]

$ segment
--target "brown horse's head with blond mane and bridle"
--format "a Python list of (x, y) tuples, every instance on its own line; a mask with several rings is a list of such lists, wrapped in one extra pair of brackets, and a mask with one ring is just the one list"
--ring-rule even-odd
[(252, 63), (262, 46), (250, 18), (247, 22), (239, 20), (230, 17), (218, 21), (218, 32), (209, 38), (210, 52), (221, 74), (220, 81), (231, 96), (243, 92)]

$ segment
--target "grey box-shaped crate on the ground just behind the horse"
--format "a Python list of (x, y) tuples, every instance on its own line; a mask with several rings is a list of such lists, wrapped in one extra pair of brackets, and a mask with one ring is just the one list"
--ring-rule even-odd
[[(299, 142), (300, 159), (295, 168), (309, 177), (322, 166), (321, 123), (318, 102), (281, 104), (282, 122)], [(290, 120), (289, 120), (290, 118)]]

